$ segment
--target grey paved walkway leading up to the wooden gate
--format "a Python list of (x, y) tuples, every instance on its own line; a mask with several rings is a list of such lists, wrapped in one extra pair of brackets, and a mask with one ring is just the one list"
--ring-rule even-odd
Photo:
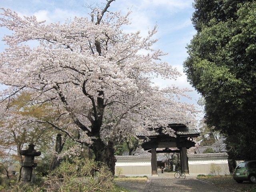
[(132, 192), (232, 192), (232, 190), (219, 188), (211, 183), (199, 180), (196, 176), (186, 175), (185, 179), (176, 179), (173, 173), (164, 172), (161, 174), (161, 171), (158, 173), (158, 177), (148, 177), (146, 184), (117, 183)]

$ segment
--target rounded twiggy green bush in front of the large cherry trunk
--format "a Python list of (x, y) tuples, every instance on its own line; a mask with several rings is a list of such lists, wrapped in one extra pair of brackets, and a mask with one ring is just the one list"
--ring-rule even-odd
[(88, 159), (75, 158), (64, 161), (50, 173), (46, 182), (52, 192), (113, 192), (116, 191), (114, 176), (108, 166)]

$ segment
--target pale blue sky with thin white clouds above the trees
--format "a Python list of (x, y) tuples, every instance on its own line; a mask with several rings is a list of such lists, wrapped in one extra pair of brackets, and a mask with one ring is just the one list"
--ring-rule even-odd
[[(140, 30), (141, 36), (146, 36), (149, 29), (158, 25), (158, 32), (155, 38), (159, 39), (154, 48), (160, 48), (168, 53), (162, 57), (162, 61), (168, 62), (183, 74), (183, 62), (187, 58), (186, 45), (190, 43), (196, 30), (191, 23), (191, 16), (194, 12), (192, 3), (194, 0), (116, 0), (110, 4), (108, 9), (111, 12), (121, 11), (130, 14), (132, 24), (126, 27), (127, 32)], [(87, 5), (96, 4), (103, 7), (106, 0), (0, 0), (0, 7), (10, 8), (16, 11), (19, 16), (35, 15), (38, 20), (46, 20), (46, 23), (63, 23), (66, 19), (74, 16), (87, 17), (90, 9)], [(0, 28), (2, 38), (8, 30)], [(4, 42), (0, 41), (0, 52), (4, 51)], [(176, 81), (156, 80), (159, 86), (174, 84), (180, 88), (190, 88), (193, 91), (188, 95), (192, 100), (182, 98), (184, 102), (196, 104), (200, 95), (190, 86), (183, 74)]]

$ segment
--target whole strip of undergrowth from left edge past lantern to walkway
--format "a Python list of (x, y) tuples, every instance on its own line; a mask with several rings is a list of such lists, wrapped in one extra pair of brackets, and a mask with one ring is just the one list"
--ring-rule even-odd
[(115, 184), (102, 162), (74, 158), (63, 161), (48, 177), (36, 175), (36, 183), (18, 183), (16, 177), (1, 178), (0, 192), (128, 192)]

